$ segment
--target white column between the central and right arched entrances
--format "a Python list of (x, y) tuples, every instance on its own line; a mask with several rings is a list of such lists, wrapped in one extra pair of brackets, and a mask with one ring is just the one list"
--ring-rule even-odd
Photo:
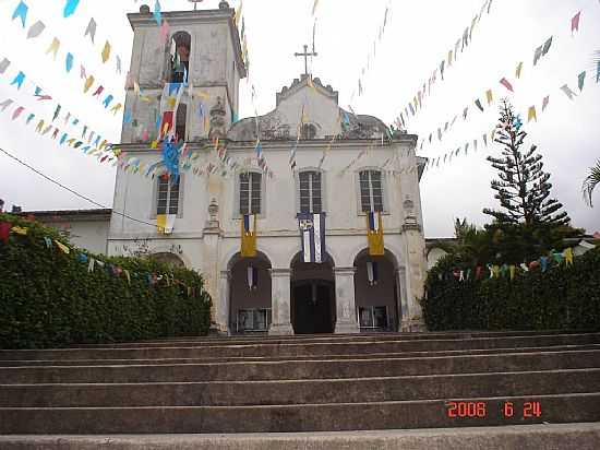
[(335, 268), (336, 334), (358, 333), (355, 305), (355, 273), (357, 268)]

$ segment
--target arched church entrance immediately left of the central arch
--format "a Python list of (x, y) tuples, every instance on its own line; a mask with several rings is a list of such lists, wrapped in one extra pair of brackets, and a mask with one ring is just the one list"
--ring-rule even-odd
[(236, 254), (229, 262), (229, 330), (233, 334), (266, 333), (271, 315), (271, 261)]

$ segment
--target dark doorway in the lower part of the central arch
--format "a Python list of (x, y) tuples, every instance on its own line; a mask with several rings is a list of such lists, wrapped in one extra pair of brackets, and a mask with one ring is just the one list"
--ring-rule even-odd
[(302, 282), (292, 288), (292, 325), (296, 334), (333, 333), (333, 286)]

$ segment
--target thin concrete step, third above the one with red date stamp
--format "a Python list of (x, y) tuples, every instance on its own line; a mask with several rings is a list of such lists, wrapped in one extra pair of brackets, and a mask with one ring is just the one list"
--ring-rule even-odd
[[(548, 346), (523, 346), (523, 347), (497, 347), (497, 348), (472, 348), (472, 350), (446, 350), (446, 351), (423, 351), (423, 352), (393, 352), (393, 353), (365, 353), (360, 355), (305, 355), (296, 356), (293, 360), (344, 360), (344, 359), (381, 359), (381, 358), (420, 358), (420, 357), (443, 357), (464, 355), (495, 355), (506, 353), (544, 353), (544, 352), (568, 352), (568, 351), (593, 351), (600, 350), (600, 344), (573, 344), (573, 345), (548, 345)], [(181, 365), (181, 364), (220, 364), (220, 363), (269, 363), (287, 362), (287, 356), (231, 356), (231, 357), (195, 357), (195, 358), (127, 358), (127, 359), (0, 359), (0, 367), (41, 367), (41, 366), (125, 366), (125, 365)]]

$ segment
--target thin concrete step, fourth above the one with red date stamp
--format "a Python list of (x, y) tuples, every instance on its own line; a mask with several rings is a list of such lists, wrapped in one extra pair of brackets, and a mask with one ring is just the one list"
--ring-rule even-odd
[[(439, 336), (441, 338), (441, 336)], [(301, 357), (372, 353), (483, 350), (499, 347), (599, 344), (600, 333), (519, 335), (472, 339), (410, 339), (375, 342), (197, 345), (176, 347), (101, 347), (46, 351), (0, 351), (0, 359), (159, 359), (205, 357)]]

